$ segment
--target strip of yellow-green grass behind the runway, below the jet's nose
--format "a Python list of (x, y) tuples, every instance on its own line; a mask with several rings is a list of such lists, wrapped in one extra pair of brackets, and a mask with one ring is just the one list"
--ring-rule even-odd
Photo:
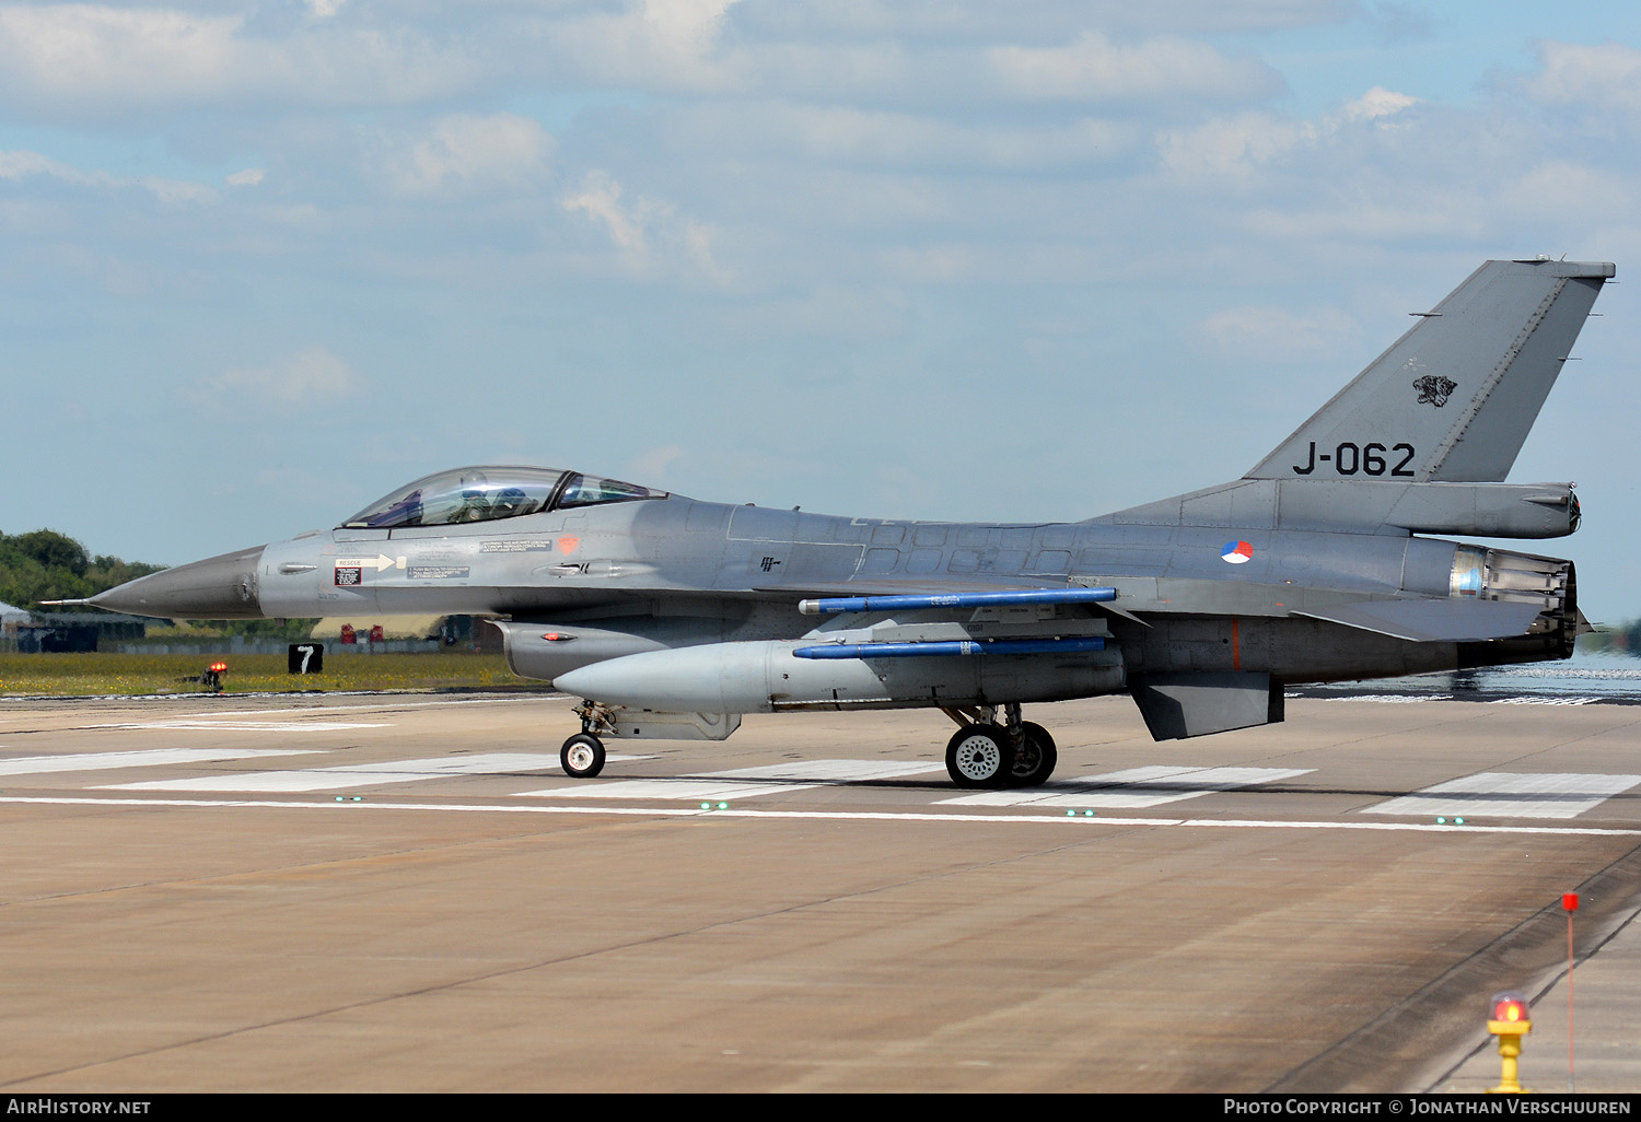
[(323, 674), (289, 674), (284, 654), (0, 654), (0, 697), (197, 694), (195, 677), (228, 663), (223, 691), (542, 689), (501, 654), (331, 654)]

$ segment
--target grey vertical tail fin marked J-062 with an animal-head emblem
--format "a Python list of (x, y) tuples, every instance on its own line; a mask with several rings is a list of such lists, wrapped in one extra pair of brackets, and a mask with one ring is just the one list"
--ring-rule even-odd
[(1503, 481), (1611, 276), (1488, 261), (1246, 477)]

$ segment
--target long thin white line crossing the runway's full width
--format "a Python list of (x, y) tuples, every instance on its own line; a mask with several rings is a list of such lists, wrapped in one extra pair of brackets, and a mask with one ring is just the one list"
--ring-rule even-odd
[(271, 802), (264, 799), (135, 799), (120, 796), (102, 797), (31, 797), (0, 796), (3, 804), (33, 804), (57, 807), (120, 807), (166, 810), (410, 810), (415, 814), (566, 814), (566, 815), (617, 815), (635, 819), (789, 819), (799, 822), (917, 822), (917, 823), (975, 823), (996, 827), (1058, 825), (1058, 827), (1193, 827), (1204, 830), (1372, 830), (1380, 833), (1511, 833), (1538, 837), (1603, 837), (1636, 838), (1641, 828), (1603, 827), (1449, 827), (1411, 822), (1278, 822), (1257, 819), (1103, 819), (1063, 814), (958, 814), (945, 812), (891, 812), (891, 810), (693, 810), (689, 807), (545, 807), (532, 804), (459, 804), (459, 802)]

